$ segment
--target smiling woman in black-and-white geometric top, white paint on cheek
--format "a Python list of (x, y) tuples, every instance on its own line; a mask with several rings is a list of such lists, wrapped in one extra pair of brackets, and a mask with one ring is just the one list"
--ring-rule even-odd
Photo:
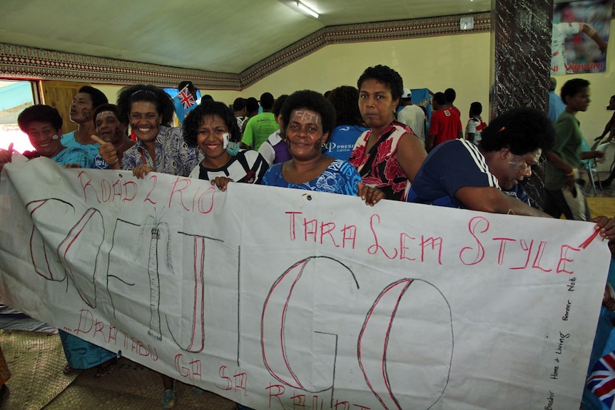
[(183, 135), (189, 146), (198, 146), (205, 158), (190, 178), (210, 180), (220, 190), (229, 182), (259, 184), (269, 165), (254, 150), (240, 150), (241, 131), (233, 111), (224, 103), (206, 101), (188, 113)]

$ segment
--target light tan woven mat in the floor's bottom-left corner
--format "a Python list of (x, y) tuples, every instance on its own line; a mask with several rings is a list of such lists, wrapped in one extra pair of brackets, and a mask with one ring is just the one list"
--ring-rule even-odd
[(78, 376), (62, 373), (66, 358), (57, 334), (0, 330), (0, 345), (12, 374), (0, 409), (42, 409)]

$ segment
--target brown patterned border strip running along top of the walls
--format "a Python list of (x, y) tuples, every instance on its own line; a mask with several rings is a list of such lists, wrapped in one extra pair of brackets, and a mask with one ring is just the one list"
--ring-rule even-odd
[(255, 63), (240, 74), (159, 66), (0, 43), (0, 76), (118, 85), (154, 83), (167, 87), (175, 87), (180, 81), (190, 78), (195, 86), (201, 89), (242, 90), (330, 44), (418, 39), (490, 31), (489, 11), (464, 16), (474, 17), (474, 29), (459, 29), (461, 15), (328, 26)]

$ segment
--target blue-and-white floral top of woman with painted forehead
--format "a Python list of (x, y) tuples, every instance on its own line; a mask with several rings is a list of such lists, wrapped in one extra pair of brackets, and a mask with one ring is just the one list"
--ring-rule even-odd
[(263, 177), (263, 185), (355, 196), (359, 191), (361, 177), (347, 161), (334, 160), (318, 178), (303, 184), (288, 183), (282, 175), (282, 165), (279, 163), (269, 168)]

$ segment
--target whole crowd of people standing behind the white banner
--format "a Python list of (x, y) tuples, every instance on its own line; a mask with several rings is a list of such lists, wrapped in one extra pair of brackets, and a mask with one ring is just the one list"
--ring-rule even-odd
[[(190, 84), (178, 89), (195, 97)], [(615, 219), (592, 219), (579, 186), (581, 160), (604, 156), (582, 150), (575, 115), (589, 106), (587, 81), (566, 82), (560, 97), (564, 108), (553, 121), (542, 111), (520, 107), (487, 125), (482, 104), (474, 102), (465, 127), (452, 88), (434, 94), (430, 116), (427, 107), (412, 103), (410, 88), (387, 66), (366, 68), (356, 88), (340, 86), (325, 95), (303, 90), (276, 99), (263, 93), (260, 104), (237, 98), (231, 105), (202, 98), (181, 113), (181, 127), (173, 127), (173, 98), (157, 86), (125, 87), (116, 105), (85, 86), (73, 98), (71, 121), (78, 124), (73, 133), (63, 134), (63, 119), (51, 106), (26, 108), (18, 122), (34, 146), (24, 155), (65, 167), (131, 170), (136, 178), (183, 175), (209, 180), (220, 190), (229, 183), (252, 183), (354, 195), (370, 206), (402, 200), (564, 215), (592, 220), (601, 237), (615, 240)], [(600, 138), (610, 140), (614, 129), (611, 118)], [(0, 169), (12, 155), (10, 148), (0, 150)], [(541, 156), (547, 158), (544, 204), (532, 203), (520, 184)], [(96, 375), (104, 376), (113, 370), (113, 352), (66, 332), (61, 337), (65, 371), (98, 367)], [(174, 381), (162, 378), (162, 406), (170, 408), (177, 401)]]

